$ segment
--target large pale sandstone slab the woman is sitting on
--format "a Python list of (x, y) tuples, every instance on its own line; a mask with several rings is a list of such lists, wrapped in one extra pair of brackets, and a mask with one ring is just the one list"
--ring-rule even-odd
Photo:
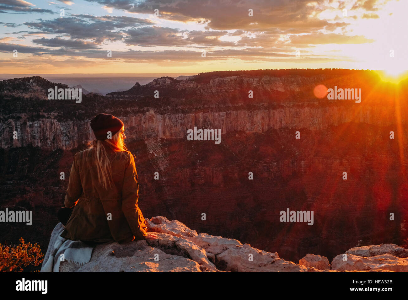
[(206, 233), (197, 235), (196, 231), (177, 220), (157, 216), (146, 219), (146, 223), (149, 232), (155, 232), (157, 239), (100, 244), (93, 250), (90, 262), (78, 266), (64, 261), (60, 271), (308, 271), (304, 266), (279, 258), (276, 252), (242, 245), (234, 239)]

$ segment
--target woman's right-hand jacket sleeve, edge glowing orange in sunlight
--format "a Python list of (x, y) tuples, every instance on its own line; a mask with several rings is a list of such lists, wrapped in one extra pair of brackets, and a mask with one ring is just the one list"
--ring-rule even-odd
[(125, 169), (123, 179), (122, 211), (135, 240), (142, 240), (147, 236), (147, 227), (142, 211), (137, 206), (138, 198), (139, 183), (137, 182), (135, 159), (133, 154), (130, 154), (130, 162)]

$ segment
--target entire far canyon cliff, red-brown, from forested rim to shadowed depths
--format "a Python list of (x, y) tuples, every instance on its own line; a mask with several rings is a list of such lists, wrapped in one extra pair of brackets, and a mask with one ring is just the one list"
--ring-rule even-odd
[[(251, 72), (157, 78), (105, 97), (83, 95), (82, 103), (33, 98), (0, 82), (1, 201), (34, 211), (30, 228), (8, 224), (3, 238), (27, 234), (47, 244), (73, 155), (93, 140), (90, 119), (104, 112), (125, 124), (145, 217), (166, 216), (292, 261), (404, 243), (407, 82), (355, 70)], [(316, 98), (319, 84), (361, 88), (361, 103)], [(221, 129), (221, 143), (186, 140), (194, 127)], [(314, 224), (280, 222), (287, 208), (314, 211)]]

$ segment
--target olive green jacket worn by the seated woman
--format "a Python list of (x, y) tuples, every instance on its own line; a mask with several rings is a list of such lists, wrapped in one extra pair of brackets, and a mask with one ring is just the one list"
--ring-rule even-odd
[(64, 205), (76, 205), (61, 233), (63, 238), (124, 243), (147, 236), (146, 221), (137, 206), (135, 158), (125, 151), (107, 149), (107, 153), (113, 179), (108, 189), (98, 182), (95, 149), (75, 154)]

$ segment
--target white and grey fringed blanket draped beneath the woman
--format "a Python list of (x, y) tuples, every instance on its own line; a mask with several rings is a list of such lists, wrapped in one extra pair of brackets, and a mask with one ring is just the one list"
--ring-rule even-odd
[(62, 238), (60, 236), (62, 231), (64, 231), (64, 225), (60, 222), (51, 233), (51, 239), (40, 272), (59, 272), (63, 259), (81, 266), (91, 260), (93, 247), (89, 247), (89, 245), (81, 241)]

